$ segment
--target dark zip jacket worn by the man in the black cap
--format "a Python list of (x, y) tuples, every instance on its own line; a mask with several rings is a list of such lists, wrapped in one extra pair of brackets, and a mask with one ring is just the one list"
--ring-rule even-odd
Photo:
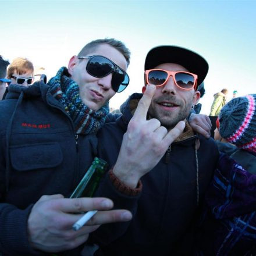
[[(121, 107), (123, 115), (116, 122), (106, 123), (97, 134), (99, 157), (110, 166), (118, 158), (123, 134), (133, 115), (131, 109), (136, 108), (141, 96), (131, 95)], [(115, 208), (129, 209), (133, 219), (99, 227), (93, 234), (101, 247), (96, 255), (178, 255), (177, 251), (189, 255), (198, 200), (200, 205), (217, 161), (214, 140), (194, 135), (187, 126), (158, 165), (141, 178), (140, 194), (120, 193), (106, 175), (98, 195), (111, 198)]]

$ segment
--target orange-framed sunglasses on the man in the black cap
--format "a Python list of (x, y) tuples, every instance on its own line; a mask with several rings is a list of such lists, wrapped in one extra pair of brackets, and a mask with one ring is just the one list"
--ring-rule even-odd
[(168, 71), (165, 69), (148, 69), (145, 70), (145, 81), (147, 84), (154, 84), (154, 86), (164, 86), (170, 76), (176, 86), (182, 90), (192, 90), (197, 87), (197, 75), (185, 71)]

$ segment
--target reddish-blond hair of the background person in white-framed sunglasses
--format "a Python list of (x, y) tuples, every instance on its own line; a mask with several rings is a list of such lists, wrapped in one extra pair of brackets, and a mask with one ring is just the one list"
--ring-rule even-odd
[(15, 72), (17, 74), (24, 74), (27, 72), (34, 73), (33, 63), (26, 58), (16, 58), (10, 63), (10, 66), (7, 69), (8, 79), (10, 79)]

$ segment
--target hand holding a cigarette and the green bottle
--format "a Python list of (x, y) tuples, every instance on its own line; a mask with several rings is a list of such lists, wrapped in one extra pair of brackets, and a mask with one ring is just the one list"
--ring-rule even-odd
[[(89, 233), (99, 225), (110, 222), (129, 221), (127, 210), (112, 210), (113, 202), (107, 198), (63, 198), (63, 195), (43, 195), (31, 210), (28, 220), (29, 240), (33, 248), (56, 253), (80, 246)], [(83, 214), (80, 212), (101, 210), (80, 230), (72, 225)], [(76, 214), (75, 214), (76, 213)]]

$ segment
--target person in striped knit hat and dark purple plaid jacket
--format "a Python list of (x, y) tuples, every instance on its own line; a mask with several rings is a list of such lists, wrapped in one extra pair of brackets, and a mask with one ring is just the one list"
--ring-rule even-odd
[(222, 154), (205, 195), (200, 255), (256, 255), (256, 94), (228, 102), (219, 133), (237, 146)]

